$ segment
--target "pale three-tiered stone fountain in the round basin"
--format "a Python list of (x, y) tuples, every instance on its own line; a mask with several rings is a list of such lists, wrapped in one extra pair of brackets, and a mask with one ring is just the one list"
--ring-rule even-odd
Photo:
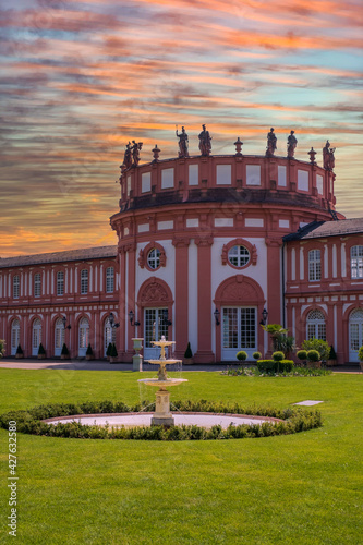
[(181, 360), (166, 359), (165, 349), (176, 343), (176, 341), (167, 341), (162, 336), (159, 341), (152, 341), (155, 347), (160, 347), (161, 353), (158, 360), (148, 360), (148, 363), (159, 365), (158, 378), (142, 378), (138, 383), (144, 383), (147, 386), (156, 386), (156, 407), (155, 413), (152, 417), (152, 425), (154, 426), (173, 426), (174, 417), (170, 412), (170, 392), (166, 389), (169, 386), (178, 386), (181, 383), (187, 383), (186, 378), (169, 378), (167, 375), (167, 365), (173, 363), (181, 363)]

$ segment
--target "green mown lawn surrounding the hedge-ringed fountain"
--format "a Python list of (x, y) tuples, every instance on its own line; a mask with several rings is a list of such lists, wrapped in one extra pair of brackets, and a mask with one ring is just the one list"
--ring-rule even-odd
[[(0, 413), (44, 403), (153, 399), (150, 374), (0, 370)], [(171, 399), (286, 408), (305, 399), (324, 426), (227, 441), (122, 441), (19, 434), (16, 543), (361, 543), (362, 376), (229, 377), (183, 373)], [(0, 543), (8, 542), (1, 429)]]

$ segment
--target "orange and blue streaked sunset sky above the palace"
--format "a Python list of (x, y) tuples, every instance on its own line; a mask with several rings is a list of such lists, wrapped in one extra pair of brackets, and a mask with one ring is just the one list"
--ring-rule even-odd
[(0, 0), (0, 256), (116, 244), (125, 144), (295, 157), (336, 147), (337, 209), (363, 216), (362, 0)]

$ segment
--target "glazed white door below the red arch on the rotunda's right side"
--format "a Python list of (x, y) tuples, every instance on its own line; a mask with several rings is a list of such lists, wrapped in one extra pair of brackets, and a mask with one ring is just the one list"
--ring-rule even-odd
[(237, 361), (240, 350), (252, 354), (257, 350), (256, 307), (231, 306), (222, 308), (222, 352), (223, 361)]

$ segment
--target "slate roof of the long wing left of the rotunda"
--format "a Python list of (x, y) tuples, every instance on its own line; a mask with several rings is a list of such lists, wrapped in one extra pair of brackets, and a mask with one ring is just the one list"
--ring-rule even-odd
[(44, 265), (46, 263), (64, 263), (94, 259), (97, 257), (116, 257), (117, 246), (83, 247), (65, 252), (47, 254), (20, 255), (17, 257), (0, 258), (0, 268), (20, 267), (26, 265)]

